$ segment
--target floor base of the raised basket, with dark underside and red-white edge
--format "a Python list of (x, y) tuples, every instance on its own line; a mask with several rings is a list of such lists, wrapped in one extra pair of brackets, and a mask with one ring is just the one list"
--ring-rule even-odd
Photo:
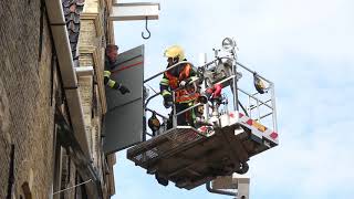
[(129, 148), (127, 158), (148, 174), (192, 189), (217, 176), (244, 174), (250, 157), (278, 145), (275, 132), (261, 132), (243, 114), (221, 119), (225, 126), (214, 129), (177, 126)]

